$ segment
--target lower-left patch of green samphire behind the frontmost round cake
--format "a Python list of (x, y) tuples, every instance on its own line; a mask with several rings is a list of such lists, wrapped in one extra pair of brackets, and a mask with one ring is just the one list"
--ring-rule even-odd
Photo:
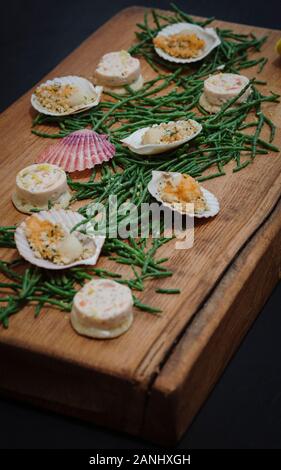
[[(14, 227), (0, 228), (0, 246), (13, 248)], [(96, 267), (78, 266), (64, 271), (49, 271), (46, 269), (28, 266), (18, 258), (11, 263), (0, 261), (0, 273), (6, 278), (0, 282), (0, 323), (4, 327), (9, 325), (9, 317), (18, 313), (25, 305), (32, 302), (35, 305), (35, 316), (38, 316), (44, 306), (54, 306), (64, 311), (71, 311), (73, 297), (76, 290), (91, 280), (93, 276), (114, 278), (120, 284), (125, 284), (135, 291), (144, 290), (144, 282), (150, 278), (165, 278), (172, 276), (172, 272), (162, 263), (166, 259), (156, 259), (157, 249), (166, 243), (167, 239), (155, 239), (152, 246), (145, 249), (145, 241), (137, 243), (130, 239), (128, 243), (121, 240), (108, 240), (104, 245), (103, 254), (111, 256), (117, 262), (131, 266), (134, 277), (124, 279), (118, 273), (110, 272)], [(113, 253), (115, 256), (113, 256)], [(137, 269), (139, 272), (137, 272)], [(164, 293), (164, 292), (163, 292)], [(178, 293), (178, 292), (177, 292)], [(158, 308), (143, 304), (134, 296), (137, 308), (152, 314), (161, 313)]]

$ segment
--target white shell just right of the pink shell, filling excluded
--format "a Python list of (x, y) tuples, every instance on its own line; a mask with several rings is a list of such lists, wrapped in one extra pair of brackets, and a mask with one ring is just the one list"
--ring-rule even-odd
[[(194, 121), (193, 119), (188, 119), (188, 121), (191, 122), (194, 127), (196, 127), (196, 131), (194, 132), (194, 134), (187, 136), (184, 139), (177, 140), (176, 142), (171, 142), (169, 144), (142, 144), (142, 138), (146, 131), (150, 129), (150, 127), (158, 126), (158, 124), (138, 129), (125, 139), (121, 139), (121, 142), (126, 144), (126, 146), (129, 147), (132, 152), (137, 153), (139, 155), (157, 155), (158, 153), (169, 152), (170, 150), (173, 150), (179, 147), (180, 145), (185, 144), (189, 140), (194, 139), (201, 132), (202, 126), (201, 124), (199, 124), (199, 122)], [(170, 122), (177, 123), (180, 121)]]

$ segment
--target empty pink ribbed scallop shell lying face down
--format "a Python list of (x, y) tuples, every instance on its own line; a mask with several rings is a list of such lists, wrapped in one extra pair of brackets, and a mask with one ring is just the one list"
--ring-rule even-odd
[(37, 157), (37, 163), (58, 165), (71, 173), (93, 168), (107, 162), (114, 155), (115, 146), (109, 142), (106, 134), (82, 129), (43, 150)]

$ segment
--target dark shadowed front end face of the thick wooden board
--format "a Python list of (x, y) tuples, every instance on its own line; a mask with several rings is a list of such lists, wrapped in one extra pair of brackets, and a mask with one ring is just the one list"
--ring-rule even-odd
[(146, 390), (126, 377), (0, 343), (0, 394), (129, 434), (139, 434)]

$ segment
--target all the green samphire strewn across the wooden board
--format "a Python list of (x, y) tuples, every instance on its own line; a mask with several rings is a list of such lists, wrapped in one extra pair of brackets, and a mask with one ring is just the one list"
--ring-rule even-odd
[[(247, 102), (239, 107), (232, 105), (240, 95), (211, 116), (199, 104), (204, 79), (210, 74), (220, 69), (239, 73), (240, 70), (253, 66), (257, 66), (259, 73), (267, 59), (250, 59), (248, 54), (252, 51), (259, 52), (266, 37), (257, 38), (252, 33), (237, 34), (230, 29), (217, 28), (221, 44), (202, 63), (179, 67), (177, 64), (167, 63), (155, 53), (153, 38), (168, 24), (186, 21), (204, 27), (213, 18), (196, 22), (175, 5), (172, 4), (171, 7), (173, 14), (152, 10), (152, 22), (149, 21), (148, 14), (145, 14), (144, 22), (138, 25), (137, 43), (129, 49), (132, 55), (142, 56), (156, 73), (155, 78), (147, 81), (140, 91), (134, 93), (127, 87), (128, 95), (121, 99), (118, 95), (108, 93), (109, 99), (100, 102), (95, 109), (81, 114), (67, 117), (39, 114), (35, 118), (32, 132), (38, 136), (60, 138), (90, 126), (98, 132), (109, 134), (111, 142), (116, 146), (116, 155), (102, 167), (100, 179), (96, 179), (95, 170), (86, 182), (69, 178), (69, 185), (75, 192), (74, 200), (92, 199), (108, 205), (109, 195), (115, 194), (118, 205), (129, 198), (139, 206), (142, 202), (150, 201), (147, 184), (152, 170), (187, 173), (198, 181), (203, 181), (223, 176), (224, 167), (230, 161), (234, 162), (233, 171), (236, 172), (251, 164), (257, 155), (267, 155), (270, 151), (279, 150), (272, 144), (275, 125), (262, 110), (262, 103), (278, 102), (279, 95), (264, 95), (257, 86), (264, 85), (265, 82), (250, 80), (247, 87), (251, 86), (253, 92)], [(241, 94), (245, 89), (246, 87)], [(159, 92), (163, 95), (160, 96)], [(169, 158), (162, 155), (154, 156), (153, 159), (144, 158), (132, 154), (119, 142), (141, 127), (190, 118), (202, 124), (202, 133), (192, 143), (172, 151)], [(50, 134), (40, 130), (39, 126), (46, 124), (57, 126), (58, 131)], [(268, 140), (261, 138), (264, 126), (269, 131)], [(245, 134), (245, 129), (252, 130), (251, 134)], [(211, 172), (205, 174), (207, 169)], [(80, 212), (86, 215), (86, 210), (87, 205)], [(13, 232), (14, 227), (0, 229), (0, 246), (14, 246)], [(8, 265), (2, 261), (0, 270), (8, 280), (1, 287), (8, 289), (9, 294), (1, 299), (5, 306), (0, 310), (0, 321), (8, 326), (8, 317), (30, 301), (37, 303), (36, 314), (44, 304), (70, 310), (76, 283), (82, 284), (94, 274), (101, 277), (116, 276), (119, 282), (126, 283), (136, 291), (142, 291), (146, 279), (172, 275), (163, 266), (167, 259), (155, 258), (157, 249), (166, 241), (164, 238), (154, 239), (146, 248), (145, 239), (129, 239), (128, 242), (106, 240), (102, 253), (117, 263), (131, 266), (134, 277), (129, 280), (118, 279), (118, 275), (102, 269), (80, 267), (56, 275), (29, 267), (24, 274), (18, 274), (14, 264)], [(157, 289), (157, 292), (178, 293), (178, 290)], [(135, 296), (134, 301), (143, 310), (151, 313), (158, 311), (143, 305)]]

